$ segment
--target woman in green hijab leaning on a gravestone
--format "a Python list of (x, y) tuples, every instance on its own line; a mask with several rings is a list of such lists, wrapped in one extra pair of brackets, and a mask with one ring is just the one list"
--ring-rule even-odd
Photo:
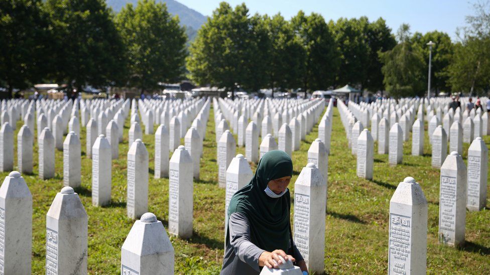
[(228, 207), (222, 275), (259, 274), (264, 265), (278, 267), (277, 263), (282, 263), (279, 255), (308, 274), (291, 233), (287, 187), (292, 175), (289, 155), (270, 151), (259, 161), (250, 183), (233, 195)]

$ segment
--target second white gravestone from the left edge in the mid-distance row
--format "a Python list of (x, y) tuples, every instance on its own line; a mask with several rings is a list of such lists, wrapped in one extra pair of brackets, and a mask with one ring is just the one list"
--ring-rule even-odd
[(17, 166), (21, 173), (32, 174), (32, 145), (34, 136), (24, 124), (17, 134)]

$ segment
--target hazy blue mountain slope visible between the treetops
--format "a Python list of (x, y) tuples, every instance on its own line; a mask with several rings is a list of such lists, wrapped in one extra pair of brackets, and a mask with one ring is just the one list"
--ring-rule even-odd
[[(127, 3), (132, 3), (134, 6), (138, 4), (138, 0), (106, 0), (107, 6), (111, 7), (116, 13), (118, 13), (122, 7), (125, 7)], [(162, 2), (167, 4), (167, 10), (172, 15), (179, 16), (180, 25), (186, 27), (186, 34), (189, 41), (193, 41), (197, 35), (197, 30), (201, 28), (202, 24), (206, 23), (207, 17), (203, 16), (199, 12), (188, 8), (187, 6), (180, 4), (175, 0), (156, 0), (156, 2)]]

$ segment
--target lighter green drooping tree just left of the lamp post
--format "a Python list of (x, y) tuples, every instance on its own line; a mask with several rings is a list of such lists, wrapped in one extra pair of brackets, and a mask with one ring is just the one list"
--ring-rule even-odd
[(392, 50), (380, 53), (384, 75), (383, 83), (393, 97), (423, 96), (425, 93), (422, 54), (413, 49), (410, 26), (402, 24), (397, 33), (399, 40)]

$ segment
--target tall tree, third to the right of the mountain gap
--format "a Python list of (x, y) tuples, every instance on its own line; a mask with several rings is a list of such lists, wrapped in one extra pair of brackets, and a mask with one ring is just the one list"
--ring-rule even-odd
[(302, 77), (303, 90), (327, 89), (335, 83), (339, 67), (339, 50), (323, 17), (303, 11), (291, 19), (293, 30), (306, 53)]

